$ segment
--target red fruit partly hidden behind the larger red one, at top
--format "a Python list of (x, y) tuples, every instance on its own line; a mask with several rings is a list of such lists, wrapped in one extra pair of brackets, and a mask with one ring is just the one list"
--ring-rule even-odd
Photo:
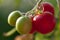
[(51, 3), (49, 2), (42, 2), (41, 4), (38, 4), (38, 8), (39, 10), (43, 10), (43, 12), (48, 11), (51, 12), (54, 15), (54, 7)]

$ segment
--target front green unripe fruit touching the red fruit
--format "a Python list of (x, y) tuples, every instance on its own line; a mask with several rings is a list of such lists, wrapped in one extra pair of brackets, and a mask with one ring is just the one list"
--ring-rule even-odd
[(28, 34), (32, 28), (32, 21), (27, 16), (21, 16), (16, 21), (16, 30), (20, 34)]

